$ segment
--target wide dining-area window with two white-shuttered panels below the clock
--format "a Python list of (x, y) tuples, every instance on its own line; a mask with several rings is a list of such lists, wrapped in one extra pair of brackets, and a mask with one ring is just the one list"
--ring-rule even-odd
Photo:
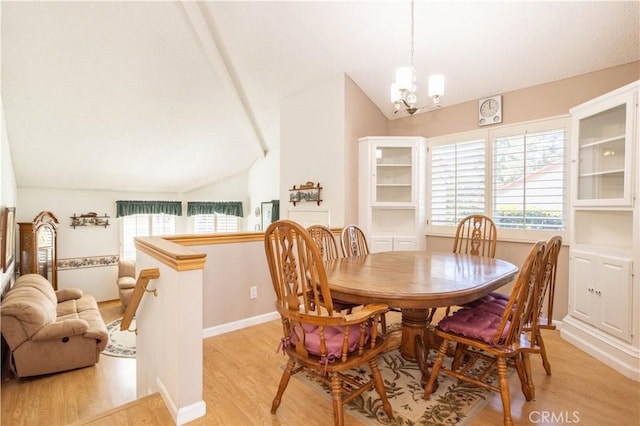
[(550, 119), (430, 140), (428, 232), (452, 235), (463, 217), (486, 214), (504, 238), (561, 234), (569, 125)]

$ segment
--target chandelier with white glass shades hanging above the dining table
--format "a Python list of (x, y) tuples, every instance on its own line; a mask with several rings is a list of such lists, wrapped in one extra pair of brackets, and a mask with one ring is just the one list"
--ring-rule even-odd
[(418, 111), (440, 108), (440, 96), (444, 94), (444, 75), (434, 74), (429, 76), (429, 96), (433, 101), (433, 105), (418, 107), (418, 96), (416, 95), (416, 69), (414, 65), (415, 56), (415, 32), (413, 17), (413, 0), (411, 0), (411, 66), (399, 67), (396, 69), (396, 81), (391, 84), (391, 102), (395, 108), (394, 114), (402, 108), (409, 115), (413, 115)]

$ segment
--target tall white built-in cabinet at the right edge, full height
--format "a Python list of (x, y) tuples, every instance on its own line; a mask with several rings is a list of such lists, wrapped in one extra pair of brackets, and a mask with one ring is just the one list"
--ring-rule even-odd
[(640, 381), (640, 82), (571, 109), (569, 309), (562, 337)]

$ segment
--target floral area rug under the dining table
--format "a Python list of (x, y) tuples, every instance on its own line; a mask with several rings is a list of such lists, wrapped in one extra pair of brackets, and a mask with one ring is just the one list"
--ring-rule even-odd
[[(435, 354), (435, 351), (431, 351), (432, 358), (435, 358)], [(397, 349), (380, 355), (377, 361), (395, 419), (387, 418), (378, 393), (371, 389), (345, 405), (345, 412), (366, 424), (466, 425), (487, 404), (491, 396), (487, 390), (440, 375), (438, 390), (425, 401), (422, 398), (424, 390), (420, 386), (422, 373), (415, 362), (404, 359)], [(447, 362), (450, 363), (450, 360), (445, 358), (445, 364)], [(483, 361), (478, 361), (478, 364), (481, 362)], [(371, 372), (365, 363), (347, 374), (357, 381), (365, 382)], [(330, 389), (313, 374), (302, 371), (293, 377), (331, 398)], [(495, 373), (493, 380), (497, 382)]]

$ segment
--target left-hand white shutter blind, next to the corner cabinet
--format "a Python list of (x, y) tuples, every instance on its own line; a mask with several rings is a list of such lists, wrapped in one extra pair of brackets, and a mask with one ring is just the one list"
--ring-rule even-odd
[(485, 212), (485, 141), (431, 148), (431, 224), (455, 226)]

